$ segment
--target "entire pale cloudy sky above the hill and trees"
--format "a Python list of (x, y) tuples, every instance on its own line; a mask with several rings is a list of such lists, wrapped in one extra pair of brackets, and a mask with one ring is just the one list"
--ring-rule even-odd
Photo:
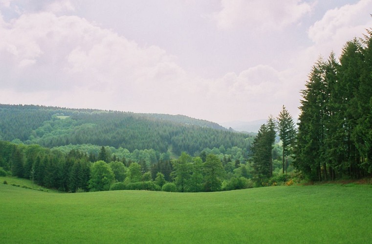
[(372, 0), (0, 0), (0, 103), (296, 119)]

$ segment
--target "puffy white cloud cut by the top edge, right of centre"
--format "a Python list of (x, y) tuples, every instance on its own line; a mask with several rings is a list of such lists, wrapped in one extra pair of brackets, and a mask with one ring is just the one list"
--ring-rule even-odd
[(300, 22), (313, 5), (301, 0), (221, 0), (221, 11), (211, 18), (221, 29), (245, 26), (261, 31), (279, 30)]

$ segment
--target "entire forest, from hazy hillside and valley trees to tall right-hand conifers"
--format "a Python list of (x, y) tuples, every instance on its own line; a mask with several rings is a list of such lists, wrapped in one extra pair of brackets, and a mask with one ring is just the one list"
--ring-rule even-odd
[(64, 192), (220, 191), (372, 176), (372, 31), (319, 57), (295, 124), (257, 135), (186, 116), (0, 104), (0, 175)]

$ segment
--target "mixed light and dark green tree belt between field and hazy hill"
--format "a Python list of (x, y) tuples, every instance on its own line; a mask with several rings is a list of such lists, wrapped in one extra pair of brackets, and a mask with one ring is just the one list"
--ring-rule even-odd
[(250, 166), (242, 156), (239, 148), (226, 150), (221, 146), (203, 150), (196, 157), (183, 152), (178, 159), (159, 159), (149, 166), (111, 155), (104, 146), (98, 155), (88, 155), (75, 149), (65, 153), (37, 144), (0, 141), (0, 175), (32, 179), (62, 192), (232, 190), (253, 186)]

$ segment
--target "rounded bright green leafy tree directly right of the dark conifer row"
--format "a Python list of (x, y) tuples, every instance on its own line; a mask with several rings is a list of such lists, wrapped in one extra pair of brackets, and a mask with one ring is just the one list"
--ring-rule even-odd
[(91, 191), (107, 191), (114, 181), (115, 176), (109, 164), (104, 161), (97, 161), (92, 164), (89, 180), (89, 189)]

